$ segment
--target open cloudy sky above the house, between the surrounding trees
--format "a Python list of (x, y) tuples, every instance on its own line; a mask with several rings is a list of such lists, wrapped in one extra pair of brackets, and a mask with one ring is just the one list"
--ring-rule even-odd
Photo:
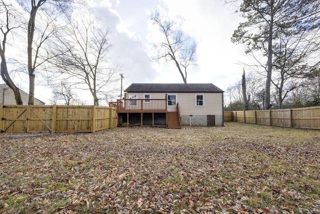
[(90, 0), (93, 12), (110, 27), (112, 60), (122, 65), (123, 88), (131, 83), (183, 83), (172, 63), (154, 62), (152, 44), (159, 39), (149, 13), (159, 10), (181, 23), (197, 43), (196, 67), (187, 83), (213, 83), (222, 90), (240, 80), (243, 48), (230, 42), (239, 17), (220, 0)]

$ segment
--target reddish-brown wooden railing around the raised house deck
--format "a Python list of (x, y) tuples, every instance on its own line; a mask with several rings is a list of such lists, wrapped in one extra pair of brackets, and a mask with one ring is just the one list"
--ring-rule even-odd
[(110, 102), (109, 106), (117, 111), (152, 111), (167, 110), (166, 99), (122, 99)]

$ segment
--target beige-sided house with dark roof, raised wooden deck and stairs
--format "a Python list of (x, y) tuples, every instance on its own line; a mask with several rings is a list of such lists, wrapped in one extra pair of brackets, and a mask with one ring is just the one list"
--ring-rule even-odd
[(222, 126), (223, 91), (209, 84), (131, 84), (117, 107), (118, 124), (180, 128)]

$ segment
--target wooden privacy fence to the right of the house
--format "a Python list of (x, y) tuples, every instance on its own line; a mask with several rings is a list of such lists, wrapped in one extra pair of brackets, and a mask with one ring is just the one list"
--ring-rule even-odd
[(320, 106), (279, 110), (226, 111), (224, 121), (320, 129)]

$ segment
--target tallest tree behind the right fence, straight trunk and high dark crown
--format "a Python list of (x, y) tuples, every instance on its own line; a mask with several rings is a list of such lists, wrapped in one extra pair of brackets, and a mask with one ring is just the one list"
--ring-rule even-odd
[[(270, 104), (273, 44), (280, 31), (294, 33), (318, 28), (320, 2), (316, 0), (244, 0), (238, 11), (245, 19), (234, 31), (231, 41), (245, 44), (246, 53), (262, 50), (266, 57), (265, 107)], [(264, 62), (263, 62), (264, 63)], [(262, 62), (260, 62), (262, 64)]]

